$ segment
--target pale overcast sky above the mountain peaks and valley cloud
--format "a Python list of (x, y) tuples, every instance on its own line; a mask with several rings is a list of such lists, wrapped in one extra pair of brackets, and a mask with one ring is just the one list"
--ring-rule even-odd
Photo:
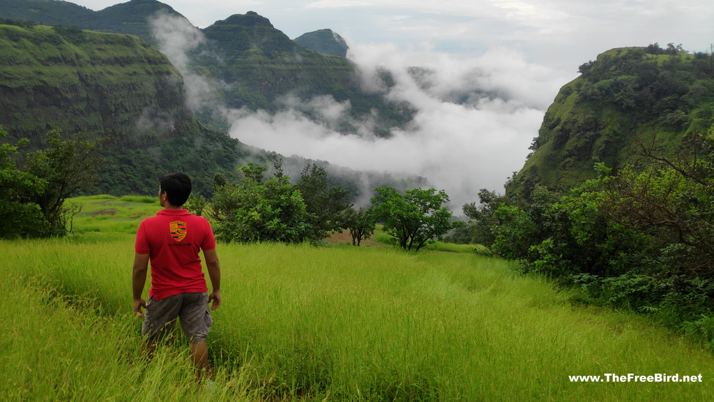
[[(116, 0), (72, 1), (101, 10)], [(533, 62), (578, 65), (613, 47), (683, 44), (704, 51), (714, 41), (710, 0), (166, 0), (205, 28), (256, 11), (291, 39), (330, 28), (350, 41), (394, 42), (453, 54), (494, 46)]]

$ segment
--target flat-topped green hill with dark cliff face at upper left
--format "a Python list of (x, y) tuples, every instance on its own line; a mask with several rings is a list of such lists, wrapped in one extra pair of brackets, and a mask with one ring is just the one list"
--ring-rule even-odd
[(34, 138), (51, 126), (145, 142), (196, 131), (181, 75), (135, 36), (0, 26), (0, 124)]

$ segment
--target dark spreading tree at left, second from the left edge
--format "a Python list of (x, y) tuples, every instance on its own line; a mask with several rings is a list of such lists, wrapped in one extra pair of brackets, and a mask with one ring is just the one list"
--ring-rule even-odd
[(26, 172), (46, 181), (44, 191), (31, 197), (39, 205), (50, 235), (64, 235), (64, 201), (78, 191), (89, 191), (99, 182), (97, 172), (104, 160), (96, 155), (104, 139), (89, 139), (77, 134), (62, 139), (60, 129), (51, 129), (49, 147), (29, 153)]

